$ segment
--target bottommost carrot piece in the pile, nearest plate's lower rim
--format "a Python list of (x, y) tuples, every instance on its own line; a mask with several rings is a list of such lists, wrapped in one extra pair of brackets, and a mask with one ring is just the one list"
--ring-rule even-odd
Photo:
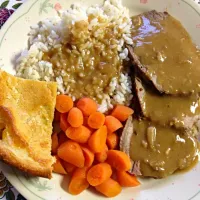
[(106, 197), (115, 197), (122, 191), (119, 183), (111, 178), (95, 188), (98, 192), (104, 194)]

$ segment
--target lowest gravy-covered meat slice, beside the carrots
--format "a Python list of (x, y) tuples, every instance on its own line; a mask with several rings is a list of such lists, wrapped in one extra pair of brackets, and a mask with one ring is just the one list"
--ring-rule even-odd
[(198, 141), (190, 134), (132, 117), (123, 130), (120, 149), (132, 160), (130, 173), (154, 178), (190, 167), (199, 152)]

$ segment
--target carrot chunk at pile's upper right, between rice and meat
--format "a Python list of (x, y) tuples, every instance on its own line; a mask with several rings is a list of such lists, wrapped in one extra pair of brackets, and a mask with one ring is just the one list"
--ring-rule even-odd
[(111, 115), (113, 117), (116, 117), (119, 121), (124, 122), (128, 119), (129, 116), (131, 116), (134, 113), (133, 109), (123, 106), (123, 105), (117, 105)]

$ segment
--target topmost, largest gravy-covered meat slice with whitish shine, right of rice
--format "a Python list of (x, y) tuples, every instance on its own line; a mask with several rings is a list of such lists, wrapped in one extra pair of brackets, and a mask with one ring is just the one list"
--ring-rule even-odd
[(189, 95), (200, 92), (200, 51), (179, 21), (168, 13), (133, 17), (130, 57), (143, 79), (160, 92)]

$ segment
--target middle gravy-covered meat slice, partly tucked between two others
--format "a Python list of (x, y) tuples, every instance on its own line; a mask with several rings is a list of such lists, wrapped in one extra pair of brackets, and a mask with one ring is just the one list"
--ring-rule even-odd
[(192, 129), (200, 121), (198, 95), (160, 95), (135, 78), (137, 99), (142, 115), (163, 126)]

